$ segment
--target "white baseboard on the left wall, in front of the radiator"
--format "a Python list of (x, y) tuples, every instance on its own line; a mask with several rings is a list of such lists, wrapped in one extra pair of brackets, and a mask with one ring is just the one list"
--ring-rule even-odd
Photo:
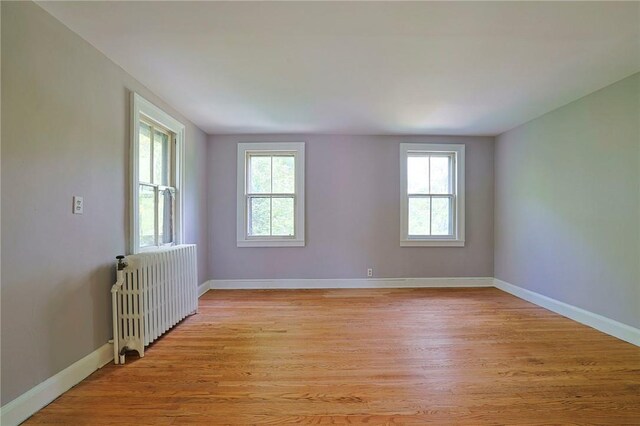
[(55, 376), (49, 377), (36, 387), (5, 404), (0, 408), (0, 424), (3, 426), (19, 425), (112, 360), (112, 346), (110, 343), (106, 343)]

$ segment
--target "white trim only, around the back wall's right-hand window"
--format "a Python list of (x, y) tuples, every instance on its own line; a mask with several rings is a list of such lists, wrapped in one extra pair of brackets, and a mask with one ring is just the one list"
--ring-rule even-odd
[[(456, 201), (453, 212), (453, 237), (409, 237), (407, 196), (407, 155), (410, 152), (442, 152), (456, 155), (455, 186)], [(400, 144), (400, 246), (402, 247), (464, 247), (464, 145), (463, 144)]]

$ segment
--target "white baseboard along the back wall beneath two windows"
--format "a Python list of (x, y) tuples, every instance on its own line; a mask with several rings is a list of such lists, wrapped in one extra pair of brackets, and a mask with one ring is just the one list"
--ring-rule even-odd
[(214, 290), (493, 287), (490, 277), (210, 280)]

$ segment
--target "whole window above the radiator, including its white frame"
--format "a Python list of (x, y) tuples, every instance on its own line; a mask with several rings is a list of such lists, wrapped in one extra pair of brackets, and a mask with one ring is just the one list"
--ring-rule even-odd
[(180, 243), (184, 125), (132, 94), (131, 252)]

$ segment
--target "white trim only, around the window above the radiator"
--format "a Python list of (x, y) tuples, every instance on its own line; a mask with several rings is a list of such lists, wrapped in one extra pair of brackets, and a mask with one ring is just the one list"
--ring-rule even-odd
[(147, 118), (154, 121), (167, 130), (175, 133), (175, 188), (176, 188), (176, 212), (175, 212), (175, 237), (174, 244), (181, 244), (184, 229), (184, 141), (185, 126), (139, 94), (131, 92), (131, 200), (130, 200), (130, 236), (129, 250), (132, 254), (145, 251), (155, 251), (161, 246), (140, 247), (140, 234), (138, 223), (138, 188), (139, 188), (139, 171), (138, 171), (138, 145), (140, 137), (140, 119)]

